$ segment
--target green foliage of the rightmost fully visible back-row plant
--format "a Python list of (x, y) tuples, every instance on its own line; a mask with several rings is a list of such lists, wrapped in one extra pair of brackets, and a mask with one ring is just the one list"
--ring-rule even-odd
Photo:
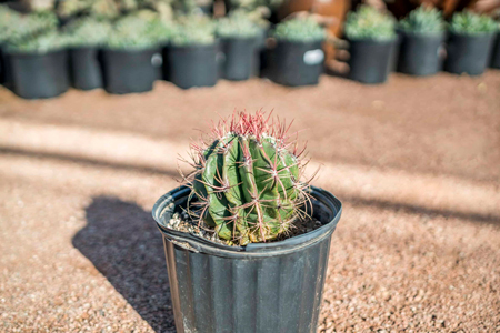
[(464, 10), (453, 14), (449, 29), (459, 34), (478, 34), (496, 32), (499, 28), (492, 18)]

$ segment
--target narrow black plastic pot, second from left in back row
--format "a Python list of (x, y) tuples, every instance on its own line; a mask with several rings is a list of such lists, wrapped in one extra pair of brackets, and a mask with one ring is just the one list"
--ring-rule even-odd
[(102, 64), (98, 48), (70, 50), (71, 83), (81, 90), (103, 88)]

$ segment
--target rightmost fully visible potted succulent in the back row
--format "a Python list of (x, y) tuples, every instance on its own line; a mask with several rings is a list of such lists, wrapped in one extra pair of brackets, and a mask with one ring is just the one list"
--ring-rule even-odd
[(449, 27), (444, 70), (469, 75), (482, 74), (491, 58), (498, 23), (471, 11), (454, 13)]

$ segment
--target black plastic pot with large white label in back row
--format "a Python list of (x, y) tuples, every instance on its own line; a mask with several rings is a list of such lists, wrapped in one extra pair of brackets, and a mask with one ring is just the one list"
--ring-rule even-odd
[(269, 52), (269, 79), (290, 87), (318, 84), (324, 61), (321, 44), (322, 41), (278, 41)]

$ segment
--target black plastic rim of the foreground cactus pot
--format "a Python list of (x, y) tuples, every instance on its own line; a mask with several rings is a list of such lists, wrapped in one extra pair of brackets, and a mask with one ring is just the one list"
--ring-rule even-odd
[(311, 195), (321, 204), (323, 210), (329, 210), (326, 212), (329, 213), (330, 221), (322, 221), (324, 223), (322, 226), (284, 241), (250, 243), (246, 246), (229, 246), (187, 232), (169, 229), (163, 224), (166, 219), (170, 219), (176, 206), (187, 201), (190, 192), (191, 190), (189, 188), (179, 186), (166, 193), (154, 203), (151, 214), (157, 222), (158, 229), (166, 239), (174, 241), (180, 246), (192, 252), (202, 252), (218, 256), (251, 259), (296, 252), (299, 249), (308, 248), (329, 238), (336, 230), (340, 215), (342, 214), (342, 203), (333, 194), (323, 189), (311, 186)]

